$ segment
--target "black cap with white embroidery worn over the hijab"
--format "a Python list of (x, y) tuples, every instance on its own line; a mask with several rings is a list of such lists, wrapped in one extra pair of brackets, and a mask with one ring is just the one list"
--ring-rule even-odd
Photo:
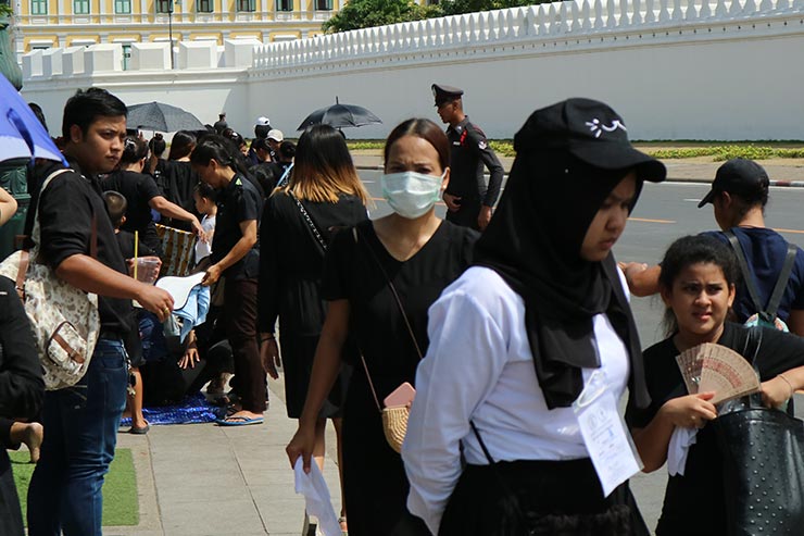
[(537, 110), (516, 134), (514, 149), (548, 155), (554, 149), (566, 150), (601, 170), (635, 169), (640, 179), (653, 183), (667, 176), (662, 162), (635, 149), (619, 114), (591, 99), (567, 99)]

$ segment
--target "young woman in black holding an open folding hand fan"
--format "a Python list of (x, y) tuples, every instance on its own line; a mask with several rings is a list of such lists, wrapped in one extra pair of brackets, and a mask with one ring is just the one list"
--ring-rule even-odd
[[(626, 412), (643, 471), (668, 462), (670, 477), (657, 536), (729, 534), (724, 453), (709, 424), (718, 416), (712, 401), (721, 396), (688, 394), (676, 357), (705, 342), (738, 352), (758, 371), (762, 399), (769, 408), (784, 407), (804, 387), (804, 338), (727, 322), (738, 275), (729, 247), (709, 236), (676, 240), (662, 262), (659, 286), (670, 335), (644, 351), (651, 404), (638, 410), (629, 401)], [(693, 521), (690, 514), (701, 508), (706, 514)]]

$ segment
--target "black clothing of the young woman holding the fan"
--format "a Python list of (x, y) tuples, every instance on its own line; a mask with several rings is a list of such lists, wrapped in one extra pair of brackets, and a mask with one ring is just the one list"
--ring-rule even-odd
[[(717, 344), (751, 359), (756, 344), (746, 341), (749, 329), (741, 324), (727, 322)], [(763, 329), (762, 344), (754, 362), (763, 382), (804, 365), (804, 338), (777, 329)], [(652, 401), (642, 411), (629, 404), (626, 421), (631, 428), (644, 428), (666, 401), (687, 395), (681, 372), (676, 364), (679, 353), (673, 337), (644, 351), (645, 379)], [(724, 489), (721, 466), (714, 427), (704, 426), (698, 432), (695, 445), (690, 447), (683, 476), (670, 476), (667, 481), (656, 536), (726, 534), (724, 498), (727, 491)], [(705, 515), (695, 515), (693, 521), (691, 512), (705, 512)]]

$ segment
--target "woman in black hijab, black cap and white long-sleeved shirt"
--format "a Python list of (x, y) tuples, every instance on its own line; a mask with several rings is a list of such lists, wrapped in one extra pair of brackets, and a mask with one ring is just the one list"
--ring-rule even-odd
[(442, 535), (648, 534), (627, 483), (603, 493), (573, 402), (593, 377), (599, 400), (650, 401), (611, 250), (664, 165), (587, 99), (535, 112), (515, 148), (474, 265), (429, 310), (407, 507)]

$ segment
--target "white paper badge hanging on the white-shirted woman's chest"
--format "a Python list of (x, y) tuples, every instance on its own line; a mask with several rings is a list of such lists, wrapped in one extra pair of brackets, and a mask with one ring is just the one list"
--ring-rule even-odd
[(608, 497), (643, 465), (605, 379), (605, 373), (595, 370), (573, 402), (573, 410), (603, 487), (603, 496)]

